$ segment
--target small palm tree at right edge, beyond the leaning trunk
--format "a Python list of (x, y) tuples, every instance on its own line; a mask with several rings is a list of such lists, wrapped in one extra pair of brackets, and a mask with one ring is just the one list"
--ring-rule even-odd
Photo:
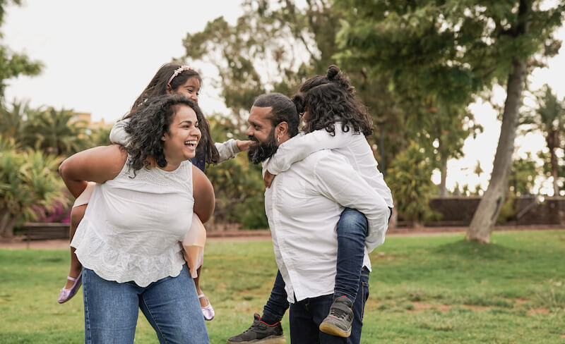
[(565, 102), (558, 99), (547, 84), (535, 96), (537, 109), (525, 113), (521, 118), (521, 125), (539, 130), (545, 136), (549, 149), (550, 176), (553, 178), (553, 195), (559, 196), (559, 157), (556, 153), (557, 149), (565, 148)]

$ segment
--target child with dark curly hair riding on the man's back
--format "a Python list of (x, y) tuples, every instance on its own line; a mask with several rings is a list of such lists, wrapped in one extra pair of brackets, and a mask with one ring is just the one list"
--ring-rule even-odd
[[(371, 135), (372, 121), (364, 104), (357, 99), (355, 88), (337, 66), (330, 66), (326, 75), (316, 75), (306, 80), (292, 98), (304, 121), (302, 133), (280, 145), (266, 165), (265, 183), (270, 186), (274, 176), (286, 171), (296, 161), (321, 149), (333, 149), (342, 154), (364, 180), (376, 190), (391, 209), (391, 190), (377, 168), (373, 151), (366, 136)], [(347, 188), (347, 185), (344, 185)], [(390, 217), (389, 217), (390, 218)], [(385, 228), (386, 230), (386, 228)], [(335, 276), (334, 302), (326, 319), (314, 319), (320, 331), (337, 337), (335, 343), (359, 343), (362, 327), (362, 305), (368, 295), (360, 282), (368, 285), (370, 262), (364, 262), (364, 250), (374, 250), (384, 242), (380, 233), (370, 231), (367, 218), (356, 209), (346, 208), (336, 228), (338, 235), (338, 262)], [(363, 300), (362, 300), (363, 299)], [(355, 302), (359, 300), (358, 302)], [(228, 343), (242, 343), (255, 337), (253, 343), (271, 343), (268, 340), (283, 338), (280, 320), (289, 307), (285, 282), (280, 273), (270, 297), (263, 307), (263, 316), (246, 332), (234, 336)], [(354, 312), (355, 311), (355, 312)], [(322, 321), (323, 320), (323, 321)], [(352, 326), (355, 324), (355, 326)], [(355, 331), (352, 332), (352, 327)], [(278, 328), (275, 331), (275, 328)], [(275, 343), (273, 341), (273, 343)], [(283, 343), (282, 340), (280, 343)], [(332, 342), (333, 343), (333, 342)]]

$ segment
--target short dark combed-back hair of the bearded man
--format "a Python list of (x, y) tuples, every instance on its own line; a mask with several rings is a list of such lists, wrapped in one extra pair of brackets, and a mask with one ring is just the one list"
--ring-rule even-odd
[(286, 122), (288, 123), (288, 134), (290, 137), (298, 134), (300, 118), (298, 117), (295, 104), (285, 94), (276, 92), (261, 94), (255, 99), (253, 106), (272, 108), (269, 119), (273, 129), (278, 123)]

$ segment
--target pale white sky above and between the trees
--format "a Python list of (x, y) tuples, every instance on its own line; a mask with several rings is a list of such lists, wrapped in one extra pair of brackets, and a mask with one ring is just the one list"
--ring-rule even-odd
[[(187, 32), (199, 32), (208, 20), (220, 16), (234, 23), (241, 14), (237, 0), (23, 0), (22, 6), (6, 6), (2, 44), (44, 63), (41, 75), (8, 80), (6, 99), (92, 113), (93, 121), (117, 121), (163, 63), (184, 56), (182, 39)], [(563, 27), (557, 37), (565, 39)], [(198, 104), (204, 113), (226, 113), (218, 90), (211, 87), (218, 78), (215, 70), (205, 63), (192, 65), (203, 76)], [(548, 83), (559, 97), (565, 97), (565, 44), (548, 66), (530, 75), (532, 89)], [(504, 90), (498, 88), (495, 94), (503, 104)], [(492, 171), (500, 122), (492, 106), (480, 99), (470, 110), (484, 132), (465, 141), (463, 159), (448, 161), (450, 190), (457, 183), (486, 190)], [(543, 147), (539, 134), (516, 140), (520, 156)], [(474, 173), (477, 161), (484, 171), (480, 177)], [(439, 183), (439, 172), (432, 180)], [(540, 178), (536, 189), (551, 194), (550, 184)]]

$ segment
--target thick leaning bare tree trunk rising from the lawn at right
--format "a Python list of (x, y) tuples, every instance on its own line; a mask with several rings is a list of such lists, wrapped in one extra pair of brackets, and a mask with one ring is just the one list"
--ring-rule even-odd
[(467, 230), (467, 240), (489, 242), (492, 228), (506, 199), (525, 74), (525, 61), (514, 58), (512, 71), (508, 78), (499, 144), (496, 147), (489, 187), (487, 192), (484, 192), (479, 207), (472, 216)]

